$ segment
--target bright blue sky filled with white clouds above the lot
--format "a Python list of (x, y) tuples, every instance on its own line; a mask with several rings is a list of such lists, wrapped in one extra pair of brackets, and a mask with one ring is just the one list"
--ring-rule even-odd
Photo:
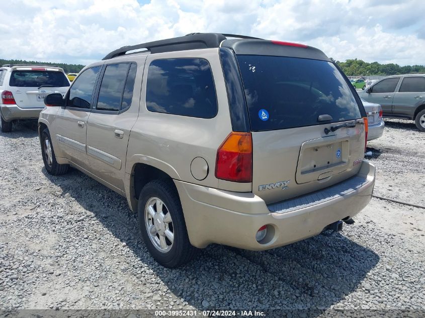
[(336, 60), (425, 64), (423, 0), (15, 0), (0, 58), (87, 64), (124, 45), (192, 32), (315, 46)]

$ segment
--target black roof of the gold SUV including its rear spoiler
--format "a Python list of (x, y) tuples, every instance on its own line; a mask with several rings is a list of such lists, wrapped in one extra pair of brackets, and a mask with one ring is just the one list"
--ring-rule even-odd
[(110, 52), (102, 60), (123, 56), (134, 50), (139, 50), (139, 52), (141, 52), (140, 50), (142, 49), (144, 49), (142, 51), (143, 53), (148, 52), (154, 54), (220, 47), (230, 48), (236, 54), (293, 56), (330, 61), (322, 51), (311, 46), (222, 33), (190, 33), (183, 37), (123, 46)]

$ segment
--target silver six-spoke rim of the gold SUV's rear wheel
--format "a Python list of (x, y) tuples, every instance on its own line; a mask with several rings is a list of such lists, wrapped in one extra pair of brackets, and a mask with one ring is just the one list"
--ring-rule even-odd
[(173, 219), (164, 202), (150, 198), (145, 205), (145, 226), (150, 241), (161, 253), (166, 253), (174, 244)]

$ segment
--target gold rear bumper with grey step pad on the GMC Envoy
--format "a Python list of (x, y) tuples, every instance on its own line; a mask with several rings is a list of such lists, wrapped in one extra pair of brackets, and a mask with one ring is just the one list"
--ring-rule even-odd
[[(192, 245), (267, 250), (315, 236), (327, 225), (358, 214), (371, 199), (375, 166), (363, 161), (356, 176), (327, 192), (323, 189), (270, 205), (253, 193), (175, 183)], [(260, 244), (255, 235), (264, 225), (269, 226), (268, 235)]]

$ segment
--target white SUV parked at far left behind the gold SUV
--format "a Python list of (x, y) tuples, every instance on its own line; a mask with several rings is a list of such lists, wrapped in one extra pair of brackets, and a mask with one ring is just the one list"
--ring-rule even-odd
[(6, 64), (0, 67), (0, 128), (12, 131), (12, 122), (38, 119), (44, 108), (44, 97), (65, 94), (69, 87), (62, 68), (46, 65)]

